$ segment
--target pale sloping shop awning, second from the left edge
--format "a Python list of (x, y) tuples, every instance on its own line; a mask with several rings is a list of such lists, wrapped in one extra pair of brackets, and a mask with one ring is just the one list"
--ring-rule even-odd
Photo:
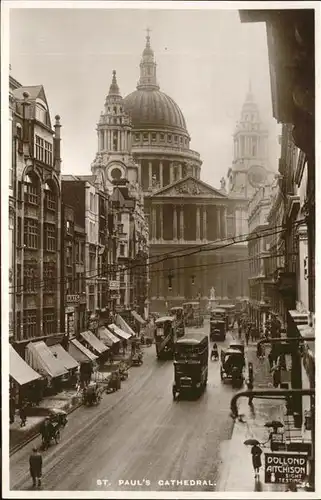
[(43, 342), (30, 342), (26, 347), (26, 360), (34, 370), (42, 375), (56, 378), (68, 375), (68, 371)]

